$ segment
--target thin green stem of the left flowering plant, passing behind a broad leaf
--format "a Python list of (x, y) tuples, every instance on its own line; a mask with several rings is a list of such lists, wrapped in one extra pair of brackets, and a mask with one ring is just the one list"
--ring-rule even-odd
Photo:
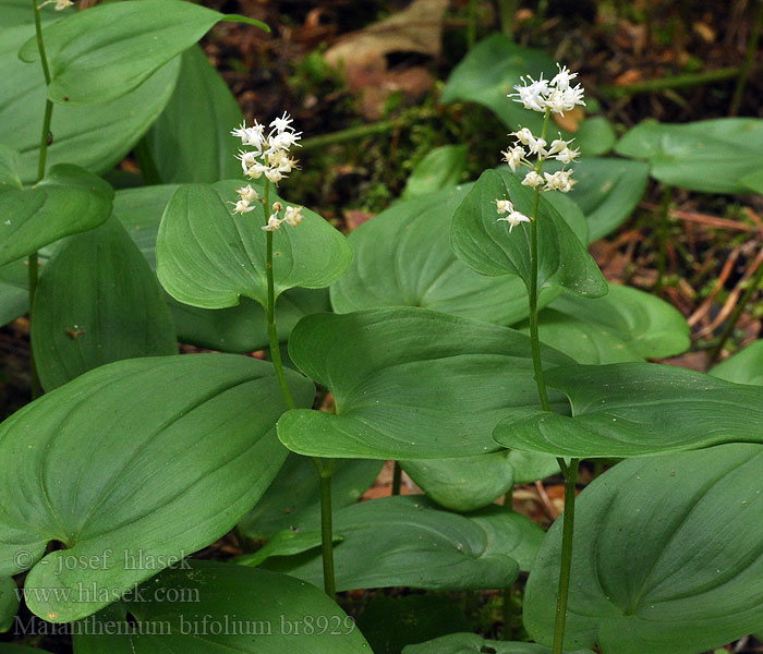
[[(267, 223), (270, 210), (270, 182), (265, 180), (263, 192), (263, 206), (265, 208), (265, 222)], [(278, 331), (276, 329), (276, 293), (272, 271), (272, 232), (265, 232), (266, 237), (266, 259), (265, 270), (267, 275), (267, 335), (270, 343), (270, 359), (276, 370), (276, 377), (281, 387), (281, 393), (288, 409), (295, 409), (294, 398), (289, 390), (289, 384), (283, 372), (281, 361), (281, 350), (278, 343)], [(336, 583), (334, 581), (334, 536), (331, 534), (331, 473), (334, 472), (334, 460), (314, 457), (313, 461), (318, 469), (320, 479), (320, 542), (324, 559), (324, 590), (334, 600), (337, 595)]]

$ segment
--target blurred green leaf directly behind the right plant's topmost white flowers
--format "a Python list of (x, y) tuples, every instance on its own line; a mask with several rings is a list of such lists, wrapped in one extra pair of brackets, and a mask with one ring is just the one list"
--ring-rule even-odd
[[(537, 78), (544, 73), (550, 78), (557, 72), (554, 60), (543, 50), (518, 46), (508, 36), (496, 34), (480, 41), (453, 69), (440, 101), (444, 105), (458, 100), (477, 102), (491, 109), (507, 128), (514, 130), (521, 125), (540, 135), (543, 114), (525, 109), (507, 95), (514, 93), (513, 87), (521, 84), (522, 75)], [(584, 156), (602, 155), (615, 143), (614, 130), (603, 117), (583, 121), (574, 134), (554, 124), (548, 129), (552, 135), (560, 132), (562, 138), (574, 137)], [(496, 154), (500, 147), (505, 146), (497, 147)]]

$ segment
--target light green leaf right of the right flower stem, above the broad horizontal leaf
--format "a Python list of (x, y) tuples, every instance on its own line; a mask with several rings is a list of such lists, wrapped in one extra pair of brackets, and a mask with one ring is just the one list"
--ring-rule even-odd
[[(578, 363), (663, 359), (689, 349), (689, 325), (667, 302), (610, 283), (604, 298), (564, 294), (538, 316), (541, 340)], [(519, 327), (530, 332), (528, 323)]]

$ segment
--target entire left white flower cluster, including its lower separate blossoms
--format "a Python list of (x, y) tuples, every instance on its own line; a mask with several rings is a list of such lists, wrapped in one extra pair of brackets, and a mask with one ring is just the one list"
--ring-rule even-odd
[[(289, 156), (289, 149), (293, 145), (299, 145), (302, 132), (295, 132), (290, 126), (291, 118), (288, 113), (283, 113), (281, 118), (277, 118), (270, 123), (270, 133), (265, 136), (265, 125), (259, 124), (256, 120), (251, 128), (246, 123), (242, 123), (231, 132), (233, 136), (241, 138), (241, 143), (245, 146), (253, 147), (253, 150), (240, 150), (237, 157), (241, 161), (244, 169), (244, 174), (251, 179), (257, 180), (262, 175), (277, 184), (295, 167), (296, 161)], [(265, 199), (259, 196), (257, 191), (252, 187), (252, 184), (246, 184), (237, 189), (239, 194), (237, 202), (229, 204), (233, 205), (234, 214), (249, 214), (255, 209), (254, 203), (265, 204)], [(296, 227), (302, 222), (302, 207), (288, 206), (283, 207), (280, 202), (275, 202), (271, 207), (271, 214), (268, 217), (267, 223), (263, 226), (264, 231), (276, 231), (286, 222), (290, 227)], [(283, 217), (279, 216), (283, 214)]]

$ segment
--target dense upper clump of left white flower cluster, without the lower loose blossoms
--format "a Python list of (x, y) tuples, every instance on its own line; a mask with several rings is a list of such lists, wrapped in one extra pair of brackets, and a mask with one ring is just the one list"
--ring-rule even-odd
[(292, 119), (283, 112), (281, 118), (274, 120), (271, 128), (265, 136), (265, 125), (256, 120), (251, 128), (242, 123), (231, 132), (233, 136), (241, 138), (241, 143), (250, 146), (252, 150), (240, 150), (239, 160), (244, 174), (253, 180), (265, 175), (274, 184), (278, 184), (287, 174), (296, 168), (296, 160), (289, 150), (292, 146), (299, 146), (302, 132), (295, 132), (291, 126)]

